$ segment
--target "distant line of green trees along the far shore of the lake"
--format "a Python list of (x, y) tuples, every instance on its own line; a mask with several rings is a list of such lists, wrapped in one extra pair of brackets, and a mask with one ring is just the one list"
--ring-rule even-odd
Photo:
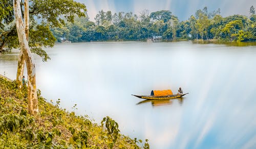
[(114, 13), (99, 11), (95, 21), (89, 17), (75, 17), (74, 23), (66, 23), (61, 28), (51, 31), (58, 42), (89, 41), (145, 41), (153, 36), (163, 40), (221, 40), (221, 41), (255, 41), (256, 15), (250, 7), (250, 17), (231, 15), (222, 17), (220, 9), (208, 12), (207, 7), (196, 11), (188, 20), (180, 21), (168, 10), (149, 13), (142, 11), (139, 15), (132, 12)]

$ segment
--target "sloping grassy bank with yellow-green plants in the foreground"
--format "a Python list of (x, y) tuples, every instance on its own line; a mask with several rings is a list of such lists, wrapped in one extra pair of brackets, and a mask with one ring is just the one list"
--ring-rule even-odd
[(149, 148), (147, 140), (120, 134), (118, 123), (104, 117), (101, 126), (87, 116), (48, 103), (38, 90), (39, 114), (28, 114), (27, 89), (0, 76), (0, 148)]

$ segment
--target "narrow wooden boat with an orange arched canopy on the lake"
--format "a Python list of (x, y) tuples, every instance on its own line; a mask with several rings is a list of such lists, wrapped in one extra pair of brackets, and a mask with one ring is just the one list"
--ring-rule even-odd
[(181, 98), (186, 94), (188, 93), (173, 94), (172, 90), (152, 90), (151, 95), (132, 95), (144, 100), (169, 100), (173, 98)]

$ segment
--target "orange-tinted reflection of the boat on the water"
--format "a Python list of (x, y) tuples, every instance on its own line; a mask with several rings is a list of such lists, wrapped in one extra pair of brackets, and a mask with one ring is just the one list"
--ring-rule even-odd
[(178, 100), (180, 105), (183, 104), (183, 98), (175, 98), (175, 99), (169, 99), (169, 100), (144, 100), (136, 105), (145, 104), (145, 103), (151, 103), (153, 107), (157, 106), (164, 106), (164, 105), (172, 105), (174, 100)]

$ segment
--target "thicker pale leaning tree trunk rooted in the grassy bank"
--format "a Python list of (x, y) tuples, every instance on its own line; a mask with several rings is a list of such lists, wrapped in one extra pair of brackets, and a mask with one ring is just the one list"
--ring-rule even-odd
[[(28, 2), (28, 0), (26, 0)], [(28, 3), (27, 3), (28, 4)], [(28, 7), (28, 6), (27, 6)], [(29, 113), (35, 115), (38, 113), (38, 101), (37, 101), (37, 90), (36, 90), (36, 79), (35, 79), (35, 64), (33, 63), (33, 57), (29, 49), (28, 40), (26, 37), (26, 31), (24, 22), (22, 20), (22, 10), (20, 8), (19, 0), (13, 0), (13, 9), (15, 15), (15, 23), (18, 33), (18, 40), (20, 44), (20, 55), (24, 56), (27, 73), (28, 73), (28, 109)], [(26, 14), (25, 14), (26, 15)], [(29, 16), (27, 16), (29, 17)]]

